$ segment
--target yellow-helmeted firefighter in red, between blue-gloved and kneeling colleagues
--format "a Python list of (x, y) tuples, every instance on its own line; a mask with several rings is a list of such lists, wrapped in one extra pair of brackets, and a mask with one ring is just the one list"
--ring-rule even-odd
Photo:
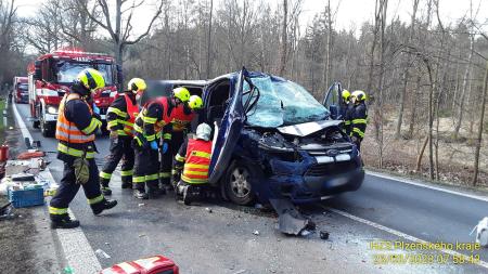
[[(191, 95), (190, 100), (176, 107), (171, 112), (170, 123), (163, 135), (163, 142), (168, 144), (168, 151), (162, 154), (159, 182), (163, 187), (171, 190), (170, 177), (172, 159), (178, 153), (181, 144), (187, 138), (187, 132), (191, 131), (191, 122), (195, 114), (202, 109), (203, 100), (198, 95)], [(176, 182), (174, 182), (176, 183)]]

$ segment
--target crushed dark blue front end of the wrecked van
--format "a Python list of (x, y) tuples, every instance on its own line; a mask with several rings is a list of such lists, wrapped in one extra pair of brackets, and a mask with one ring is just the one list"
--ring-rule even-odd
[[(262, 180), (249, 180), (256, 195), (261, 200), (287, 197), (301, 204), (358, 190), (364, 178), (361, 158), (339, 123), (325, 120), (275, 130), (244, 129), (242, 149), (237, 146), (235, 154), (264, 168)], [(308, 135), (298, 133), (310, 127), (320, 129)]]

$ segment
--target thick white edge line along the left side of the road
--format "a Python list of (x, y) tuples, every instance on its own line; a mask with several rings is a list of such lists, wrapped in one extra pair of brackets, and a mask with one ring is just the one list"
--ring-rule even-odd
[[(33, 141), (33, 135), (18, 114), (15, 104), (12, 104), (12, 109), (14, 110), (15, 120), (18, 123), (22, 135)], [(46, 168), (44, 171), (40, 172), (40, 175), (51, 182), (55, 182), (49, 168)], [(68, 211), (72, 217), (75, 217), (72, 210), (68, 209)], [(102, 270), (102, 265), (97, 259), (93, 248), (80, 227), (73, 230), (56, 230), (55, 232), (61, 242), (63, 252), (66, 256), (65, 259), (67, 264), (74, 270), (75, 273), (92, 274), (99, 273)]]

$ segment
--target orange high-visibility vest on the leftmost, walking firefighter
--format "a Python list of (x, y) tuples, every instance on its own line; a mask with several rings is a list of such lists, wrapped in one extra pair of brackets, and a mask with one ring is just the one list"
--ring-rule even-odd
[[(77, 93), (65, 94), (60, 103), (56, 123), (56, 135), (55, 135), (56, 139), (73, 144), (84, 144), (93, 142), (95, 139), (94, 133), (87, 135), (80, 129), (78, 129), (74, 122), (70, 122), (68, 119), (66, 119), (66, 116), (64, 114), (64, 106), (67, 102), (72, 100), (81, 100), (81, 99)], [(91, 106), (85, 100), (81, 101), (85, 104), (87, 104), (88, 108), (90, 109), (90, 114), (92, 115), (93, 110), (91, 109)]]

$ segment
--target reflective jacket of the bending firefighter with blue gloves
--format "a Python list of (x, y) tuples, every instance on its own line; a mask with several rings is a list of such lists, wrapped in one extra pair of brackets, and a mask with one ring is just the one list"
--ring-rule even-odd
[(152, 142), (162, 136), (163, 128), (169, 123), (171, 110), (168, 97), (157, 97), (144, 105), (133, 125), (134, 140), (140, 146), (145, 141)]

